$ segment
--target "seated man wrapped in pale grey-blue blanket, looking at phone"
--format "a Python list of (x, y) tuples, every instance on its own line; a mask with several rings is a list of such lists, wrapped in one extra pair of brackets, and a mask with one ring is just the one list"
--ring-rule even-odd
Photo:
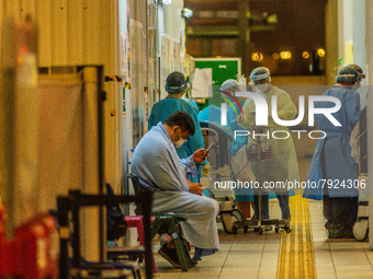
[[(202, 163), (205, 149), (199, 149), (188, 159), (176, 151), (195, 131), (193, 119), (176, 112), (165, 124), (158, 123), (138, 142), (131, 160), (131, 168), (143, 187), (155, 191), (154, 214), (169, 212), (188, 217), (181, 222), (182, 237), (195, 247), (192, 261), (218, 249), (216, 217), (218, 204), (202, 196), (202, 184), (188, 184), (187, 174), (197, 175), (195, 164)], [(173, 243), (165, 244), (158, 252), (173, 266), (180, 267)]]

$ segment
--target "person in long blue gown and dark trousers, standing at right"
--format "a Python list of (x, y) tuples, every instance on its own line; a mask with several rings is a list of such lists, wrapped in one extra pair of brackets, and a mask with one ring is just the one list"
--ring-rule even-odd
[[(324, 114), (316, 114), (316, 124), (326, 137), (318, 140), (308, 170), (307, 183), (312, 187), (303, 196), (323, 199), (325, 228), (330, 239), (352, 237), (352, 225), (357, 220), (359, 196), (354, 182), (358, 179), (357, 163), (351, 156), (350, 136), (359, 121), (360, 95), (353, 89), (359, 73), (350, 66), (338, 71), (337, 84), (324, 93), (340, 101), (341, 107), (332, 117), (341, 125), (336, 126)], [(334, 107), (332, 102), (316, 102), (316, 108)]]

